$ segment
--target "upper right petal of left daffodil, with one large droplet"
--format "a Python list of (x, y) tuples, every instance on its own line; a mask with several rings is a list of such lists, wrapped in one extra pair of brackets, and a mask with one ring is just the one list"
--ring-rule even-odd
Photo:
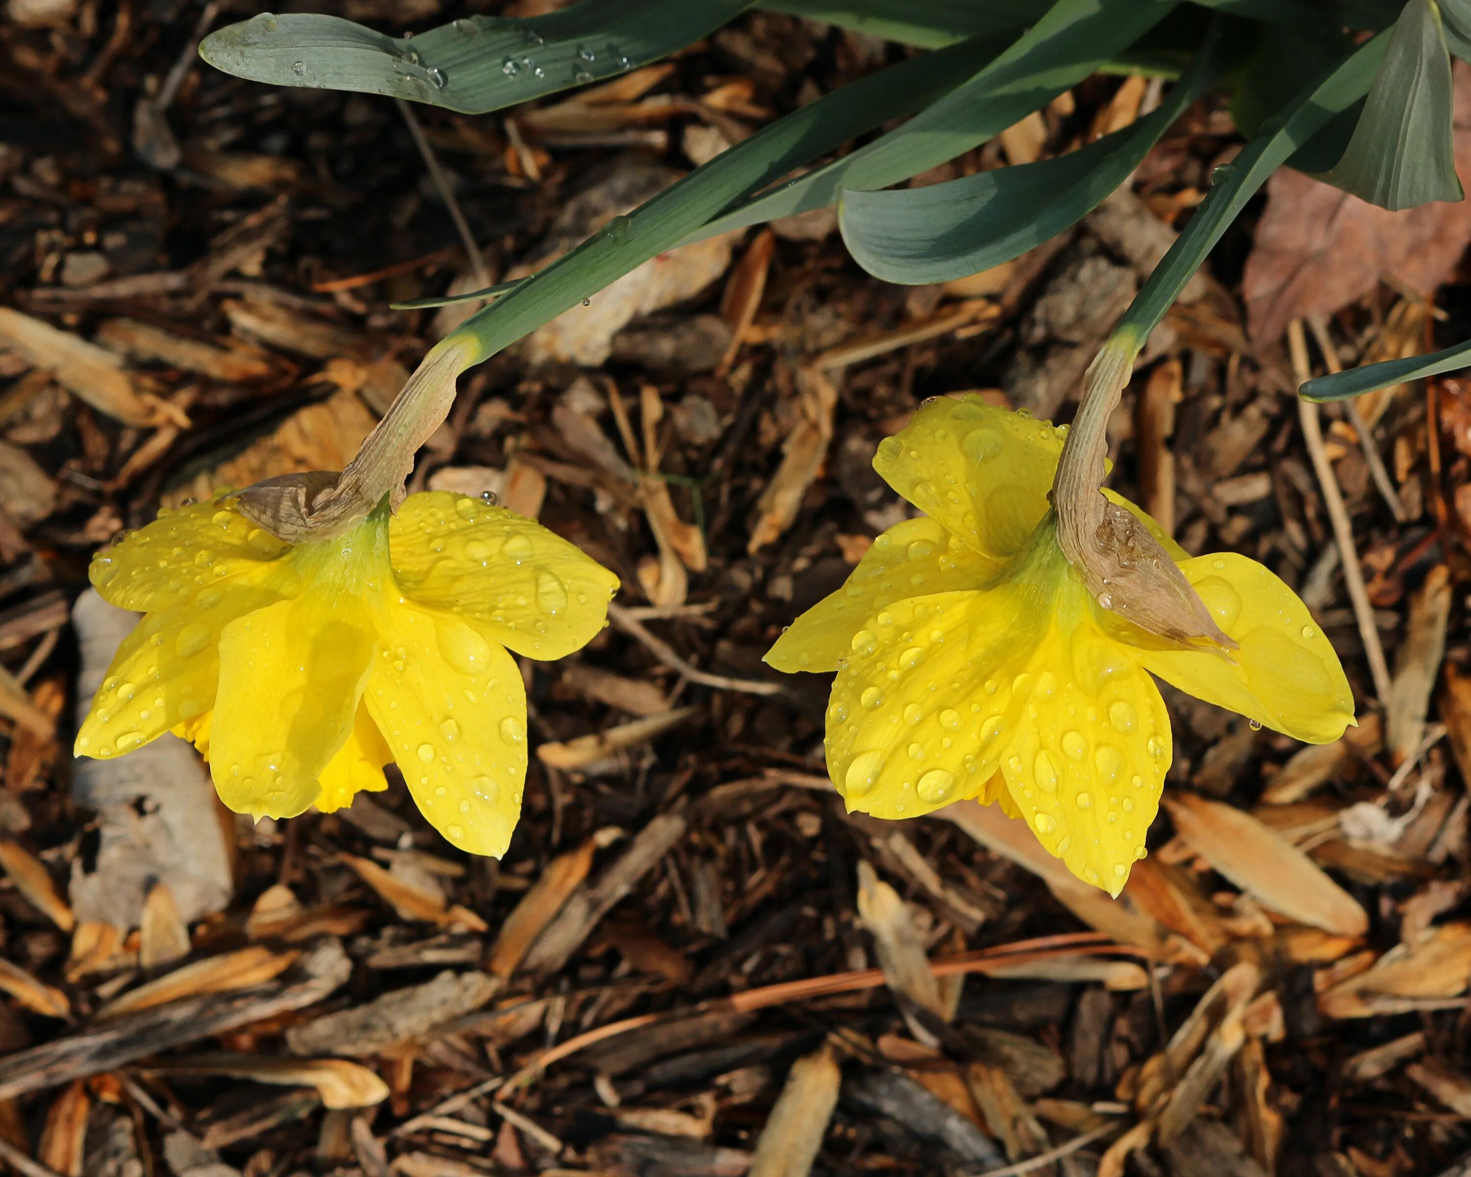
[(527, 658), (565, 658), (608, 621), (618, 577), (577, 544), (505, 508), (450, 491), (410, 494), (388, 525), (405, 594), (472, 616)]

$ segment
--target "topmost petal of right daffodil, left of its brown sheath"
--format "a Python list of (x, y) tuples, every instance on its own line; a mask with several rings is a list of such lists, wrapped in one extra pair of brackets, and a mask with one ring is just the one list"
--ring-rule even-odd
[(1064, 434), (971, 393), (937, 397), (878, 443), (874, 469), (984, 556), (1003, 559), (1047, 513)]

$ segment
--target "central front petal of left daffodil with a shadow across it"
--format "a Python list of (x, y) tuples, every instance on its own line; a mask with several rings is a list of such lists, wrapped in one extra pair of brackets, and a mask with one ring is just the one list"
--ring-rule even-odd
[(346, 606), (340, 594), (309, 591), (224, 628), (209, 768), (237, 814), (303, 812), (347, 743), (375, 641)]

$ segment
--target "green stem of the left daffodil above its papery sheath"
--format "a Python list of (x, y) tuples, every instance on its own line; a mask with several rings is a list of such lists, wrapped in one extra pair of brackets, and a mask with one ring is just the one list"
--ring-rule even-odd
[(615, 218), (493, 306), (477, 312), (459, 333), (481, 343), (482, 358), (494, 355), (678, 244), (712, 216), (793, 168), (887, 119), (934, 102), (969, 77), (977, 60), (996, 56), (1003, 46), (1003, 40), (987, 37), (962, 41), (888, 66), (793, 110), (696, 168), (628, 216)]

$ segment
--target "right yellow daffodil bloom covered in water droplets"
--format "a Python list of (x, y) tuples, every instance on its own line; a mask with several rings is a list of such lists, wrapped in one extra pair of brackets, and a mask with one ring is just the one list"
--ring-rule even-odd
[(827, 762), (847, 802), (908, 818), (965, 797), (1025, 818), (1068, 870), (1122, 890), (1169, 769), (1150, 675), (1309, 743), (1353, 722), (1333, 646), (1297, 596), (1231, 552), (1190, 558), (1131, 503), (1234, 650), (1171, 644), (1083, 586), (1047, 503), (1064, 430), (977, 396), (930, 402), (874, 468), (925, 512), (772, 646), (837, 671)]

